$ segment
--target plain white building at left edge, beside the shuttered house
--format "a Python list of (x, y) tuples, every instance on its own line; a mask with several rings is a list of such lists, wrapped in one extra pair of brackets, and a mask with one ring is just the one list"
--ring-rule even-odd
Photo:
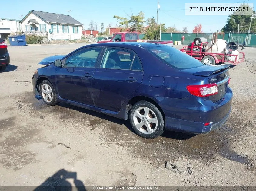
[(20, 20), (16, 19), (0, 19), (0, 38), (3, 40), (8, 37), (12, 32), (21, 31)]

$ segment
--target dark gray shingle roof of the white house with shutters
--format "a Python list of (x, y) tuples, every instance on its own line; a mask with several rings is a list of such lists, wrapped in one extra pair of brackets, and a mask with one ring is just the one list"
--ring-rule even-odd
[(37, 16), (41, 17), (46, 22), (83, 25), (82, 23), (75, 20), (73, 17), (69, 15), (34, 10), (31, 10), (31, 12), (35, 13)]

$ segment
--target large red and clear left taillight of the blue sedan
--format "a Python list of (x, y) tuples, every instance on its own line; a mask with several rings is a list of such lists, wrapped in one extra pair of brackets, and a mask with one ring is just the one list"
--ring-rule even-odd
[(218, 88), (216, 84), (188, 85), (186, 88), (190, 94), (198, 97), (206, 97), (218, 94)]

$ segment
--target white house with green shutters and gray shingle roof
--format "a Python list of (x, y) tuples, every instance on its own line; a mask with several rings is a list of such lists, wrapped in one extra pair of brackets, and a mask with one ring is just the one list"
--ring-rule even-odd
[(31, 10), (20, 21), (23, 32), (48, 32), (49, 39), (80, 39), (82, 23), (69, 15)]

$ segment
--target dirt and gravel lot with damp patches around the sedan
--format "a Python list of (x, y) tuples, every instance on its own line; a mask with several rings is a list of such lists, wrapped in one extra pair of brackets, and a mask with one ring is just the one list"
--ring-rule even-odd
[[(245, 62), (230, 69), (232, 111), (221, 128), (147, 140), (128, 121), (35, 99), (32, 74), (42, 66), (37, 63), (84, 45), (8, 46), (11, 63), (0, 72), (0, 185), (255, 185), (256, 75)], [(256, 64), (256, 48), (245, 52)], [(165, 161), (183, 172), (166, 169)], [(77, 179), (61, 179), (66, 171)]]

